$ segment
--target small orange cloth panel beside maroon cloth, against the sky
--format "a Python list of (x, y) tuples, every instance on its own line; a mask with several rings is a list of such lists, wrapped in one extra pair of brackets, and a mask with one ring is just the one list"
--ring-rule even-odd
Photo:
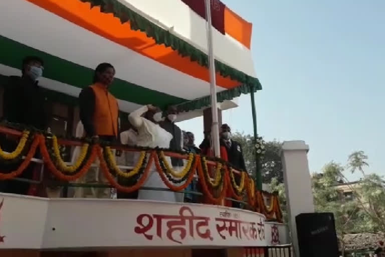
[(253, 24), (225, 8), (225, 32), (250, 49)]

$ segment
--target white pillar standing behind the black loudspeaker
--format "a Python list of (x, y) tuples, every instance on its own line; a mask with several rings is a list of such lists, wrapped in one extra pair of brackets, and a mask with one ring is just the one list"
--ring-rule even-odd
[(286, 189), (287, 211), (291, 240), (296, 257), (299, 255), (295, 216), (314, 212), (313, 192), (307, 152), (309, 146), (304, 141), (285, 141), (282, 146), (283, 177)]

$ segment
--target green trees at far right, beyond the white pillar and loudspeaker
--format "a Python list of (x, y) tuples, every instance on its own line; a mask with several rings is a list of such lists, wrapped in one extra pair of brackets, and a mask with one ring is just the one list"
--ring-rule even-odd
[[(385, 189), (382, 177), (376, 174), (365, 175), (367, 156), (362, 151), (348, 157), (345, 166), (350, 172), (359, 171), (363, 177), (356, 183), (349, 183), (343, 166), (330, 162), (322, 173), (312, 175), (312, 188), (315, 210), (332, 212), (335, 218), (337, 236), (344, 249), (343, 235), (347, 233), (375, 233), (385, 231)], [(344, 183), (353, 193), (346, 200), (338, 185)]]

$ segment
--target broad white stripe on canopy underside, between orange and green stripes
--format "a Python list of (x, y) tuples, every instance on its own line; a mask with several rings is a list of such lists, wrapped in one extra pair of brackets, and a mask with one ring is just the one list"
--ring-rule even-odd
[[(189, 100), (210, 94), (208, 82), (162, 65), (25, 0), (0, 1), (0, 31), (7, 38), (91, 69), (110, 62), (116, 77), (159, 92)], [(217, 91), (222, 90), (217, 87)]]

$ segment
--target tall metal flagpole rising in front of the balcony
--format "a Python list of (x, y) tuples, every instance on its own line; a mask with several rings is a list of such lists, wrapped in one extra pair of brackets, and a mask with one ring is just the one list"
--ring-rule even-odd
[(216, 157), (221, 157), (219, 145), (219, 127), (218, 127), (218, 107), (217, 107), (217, 83), (215, 77), (215, 60), (213, 51), (213, 32), (211, 24), (211, 1), (205, 0), (206, 18), (207, 18), (207, 46), (209, 50), (209, 69), (210, 69), (210, 94), (211, 94), (211, 111), (213, 115), (212, 138), (214, 145), (214, 153)]

